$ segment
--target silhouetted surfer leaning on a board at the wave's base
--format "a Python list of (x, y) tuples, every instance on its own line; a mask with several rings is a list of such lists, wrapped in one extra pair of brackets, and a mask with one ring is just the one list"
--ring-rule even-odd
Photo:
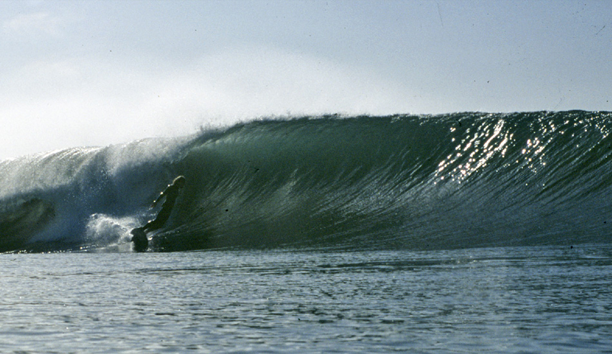
[(174, 207), (174, 202), (176, 202), (176, 198), (179, 196), (184, 186), (185, 177), (182, 175), (176, 177), (172, 184), (168, 185), (166, 189), (160, 193), (159, 197), (155, 199), (153, 204), (151, 204), (151, 208), (154, 208), (163, 198), (165, 198), (162, 204), (162, 210), (157, 213), (157, 217), (149, 221), (145, 226), (132, 230), (132, 242), (134, 243), (134, 250), (136, 252), (146, 251), (147, 246), (149, 246), (149, 239), (146, 235), (147, 232), (161, 229), (166, 221), (168, 221), (172, 213), (172, 208)]

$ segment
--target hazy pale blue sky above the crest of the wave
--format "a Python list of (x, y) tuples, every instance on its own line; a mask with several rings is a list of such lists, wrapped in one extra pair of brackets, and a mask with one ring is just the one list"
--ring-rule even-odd
[(0, 160), (262, 117), (612, 111), (612, 1), (2, 1)]

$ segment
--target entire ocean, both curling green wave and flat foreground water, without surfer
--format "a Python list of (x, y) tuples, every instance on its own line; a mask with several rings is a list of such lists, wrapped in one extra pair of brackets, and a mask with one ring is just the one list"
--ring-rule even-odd
[(612, 352), (611, 128), (288, 117), (2, 161), (0, 352)]

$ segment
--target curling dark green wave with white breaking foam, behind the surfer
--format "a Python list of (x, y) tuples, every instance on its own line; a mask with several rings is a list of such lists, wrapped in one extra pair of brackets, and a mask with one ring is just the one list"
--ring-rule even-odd
[[(258, 120), (0, 163), (0, 251), (609, 243), (612, 113)], [(122, 248), (123, 247), (123, 248)]]

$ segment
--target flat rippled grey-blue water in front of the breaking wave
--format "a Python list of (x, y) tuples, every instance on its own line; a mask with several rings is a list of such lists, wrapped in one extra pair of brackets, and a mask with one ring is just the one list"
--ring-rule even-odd
[(5, 254), (2, 353), (610, 353), (612, 247)]

